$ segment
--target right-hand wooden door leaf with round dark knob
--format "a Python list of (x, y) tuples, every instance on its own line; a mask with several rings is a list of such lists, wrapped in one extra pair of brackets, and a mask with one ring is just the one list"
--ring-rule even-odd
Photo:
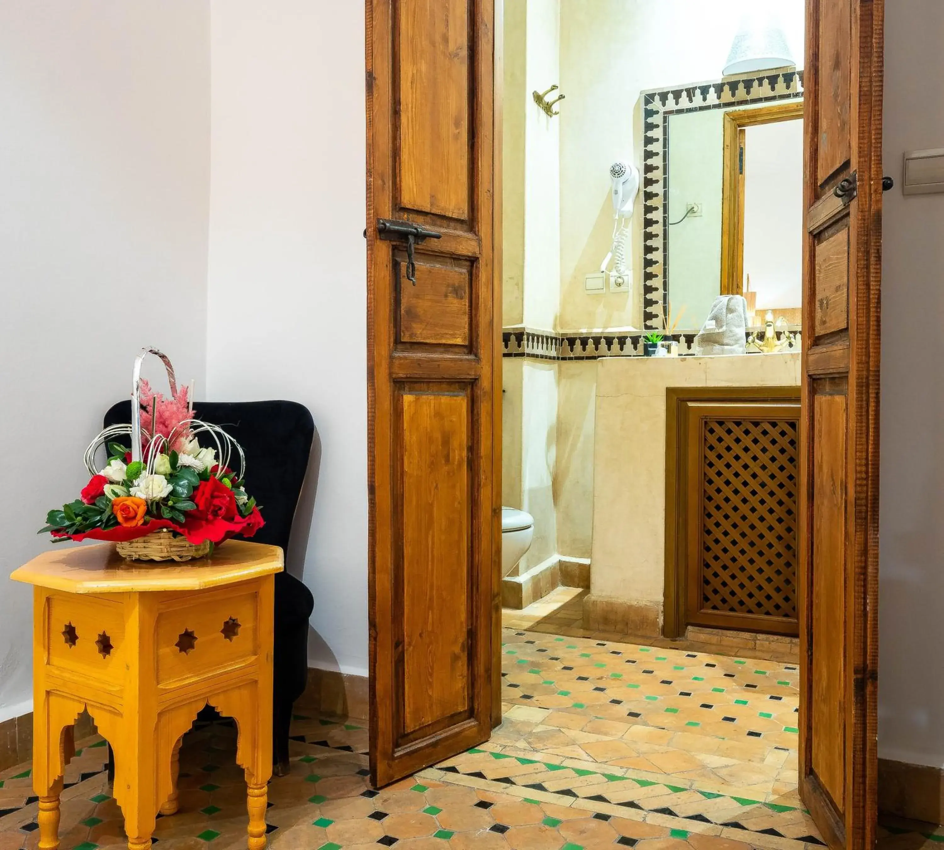
[(807, 0), (801, 796), (875, 842), (882, 0)]

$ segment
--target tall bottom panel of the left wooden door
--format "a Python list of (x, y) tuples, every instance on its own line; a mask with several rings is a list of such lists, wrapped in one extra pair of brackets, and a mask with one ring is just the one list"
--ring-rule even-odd
[(469, 608), (473, 500), (468, 387), (403, 385), (399, 395), (403, 529), (396, 576), (403, 658), (398, 745), (472, 715)]

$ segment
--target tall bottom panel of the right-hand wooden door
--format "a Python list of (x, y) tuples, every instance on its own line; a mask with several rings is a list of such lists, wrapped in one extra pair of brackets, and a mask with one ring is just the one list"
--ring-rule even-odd
[(846, 805), (846, 398), (813, 403), (813, 771), (841, 813)]

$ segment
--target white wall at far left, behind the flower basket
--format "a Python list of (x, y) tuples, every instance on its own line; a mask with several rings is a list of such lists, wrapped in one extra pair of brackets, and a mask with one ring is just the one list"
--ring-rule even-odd
[(88, 480), (134, 354), (205, 378), (208, 42), (204, 0), (0, 4), (0, 721), (31, 708), (7, 576)]

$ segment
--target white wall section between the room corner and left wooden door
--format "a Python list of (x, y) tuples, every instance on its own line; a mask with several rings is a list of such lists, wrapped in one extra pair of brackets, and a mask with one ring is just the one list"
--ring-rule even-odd
[(310, 481), (289, 567), (299, 575), (304, 560), (314, 593), (312, 664), (362, 675), (363, 44), (360, 3), (211, 0), (211, 397), (311, 409), (317, 492)]

